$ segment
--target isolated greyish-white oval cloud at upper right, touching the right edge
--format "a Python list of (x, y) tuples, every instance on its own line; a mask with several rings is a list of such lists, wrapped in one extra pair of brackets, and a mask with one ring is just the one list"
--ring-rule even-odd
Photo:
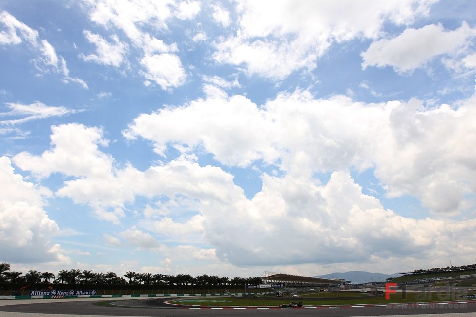
[(373, 42), (361, 54), (362, 68), (392, 66), (399, 74), (411, 73), (436, 56), (454, 54), (475, 35), (467, 23), (454, 31), (445, 31), (441, 24), (409, 28), (393, 39)]

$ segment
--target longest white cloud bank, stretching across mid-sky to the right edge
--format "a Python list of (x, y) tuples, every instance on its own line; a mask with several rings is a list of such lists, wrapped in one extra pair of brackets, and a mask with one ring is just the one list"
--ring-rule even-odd
[(432, 211), (451, 213), (465, 210), (465, 195), (476, 193), (470, 146), (476, 140), (469, 123), (476, 116), (474, 98), (455, 109), (443, 104), (426, 110), (416, 99), (363, 104), (345, 96), (314, 99), (300, 90), (262, 106), (214, 94), (142, 114), (123, 134), (153, 141), (163, 156), (168, 144), (185, 144), (176, 149), (200, 147), (231, 166), (263, 160), (303, 177), (374, 167), (387, 195), (414, 195)]

